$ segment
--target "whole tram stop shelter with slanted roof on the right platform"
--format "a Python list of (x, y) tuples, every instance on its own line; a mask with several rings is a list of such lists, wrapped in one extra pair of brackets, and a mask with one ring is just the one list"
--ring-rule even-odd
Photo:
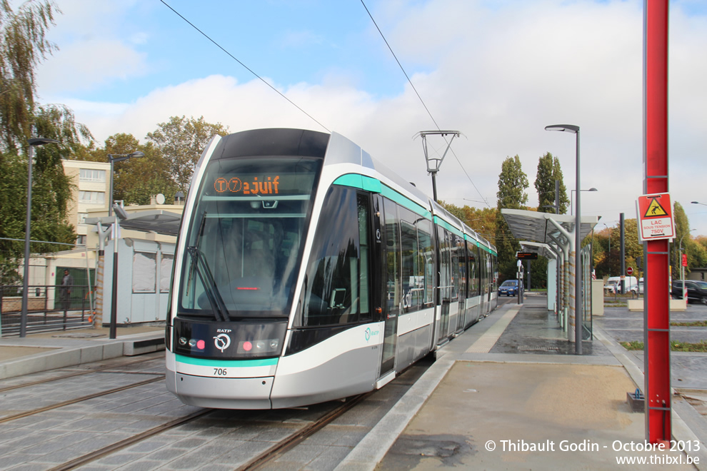
[[(575, 340), (575, 273), (576, 273), (576, 216), (538, 213), (521, 209), (501, 209), (513, 237), (521, 248), (548, 259), (548, 310), (554, 310), (558, 322), (567, 333), (567, 340)], [(580, 238), (584, 240), (599, 221), (599, 216), (582, 216)], [(591, 246), (580, 250), (582, 257), (582, 338), (591, 340)], [(553, 299), (554, 298), (554, 299)]]

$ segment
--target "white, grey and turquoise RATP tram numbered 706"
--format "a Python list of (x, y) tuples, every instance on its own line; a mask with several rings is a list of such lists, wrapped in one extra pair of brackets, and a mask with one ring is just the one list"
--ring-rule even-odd
[(174, 257), (167, 389), (276, 409), (381, 388), (496, 308), (496, 255), (338, 133), (216, 136)]

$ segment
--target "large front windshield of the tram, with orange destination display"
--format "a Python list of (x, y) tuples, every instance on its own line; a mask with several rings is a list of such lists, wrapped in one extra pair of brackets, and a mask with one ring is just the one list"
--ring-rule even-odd
[(321, 159), (211, 161), (186, 236), (180, 315), (289, 314)]

